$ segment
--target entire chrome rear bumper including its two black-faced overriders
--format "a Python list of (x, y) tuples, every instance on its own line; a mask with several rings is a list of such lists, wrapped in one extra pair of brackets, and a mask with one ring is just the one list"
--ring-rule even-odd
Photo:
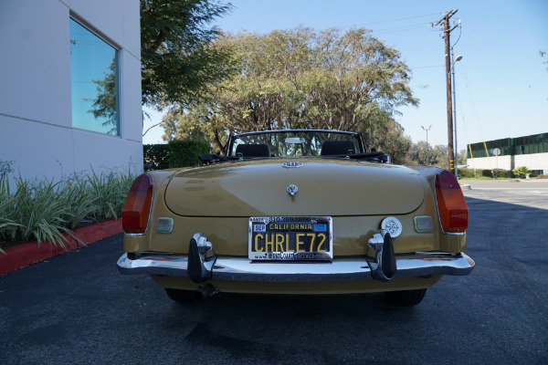
[[(195, 283), (209, 279), (254, 282), (324, 282), (376, 279), (387, 282), (406, 276), (464, 276), (475, 266), (463, 253), (416, 252), (395, 255), (390, 234), (381, 230), (369, 240), (375, 257), (334, 258), (331, 262), (253, 262), (247, 257), (211, 255), (212, 244), (196, 233), (188, 255), (124, 254), (117, 266), (122, 274), (188, 276)], [(210, 254), (210, 255), (207, 255)]]

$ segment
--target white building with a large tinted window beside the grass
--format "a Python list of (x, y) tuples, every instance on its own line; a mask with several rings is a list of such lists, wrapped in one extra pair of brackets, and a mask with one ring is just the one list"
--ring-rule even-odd
[(0, 0), (0, 162), (142, 170), (138, 0)]

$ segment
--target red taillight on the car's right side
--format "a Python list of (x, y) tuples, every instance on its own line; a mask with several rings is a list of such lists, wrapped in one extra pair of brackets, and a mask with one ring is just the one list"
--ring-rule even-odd
[(444, 232), (466, 231), (468, 228), (468, 205), (457, 179), (447, 170), (437, 172), (436, 199), (439, 220)]

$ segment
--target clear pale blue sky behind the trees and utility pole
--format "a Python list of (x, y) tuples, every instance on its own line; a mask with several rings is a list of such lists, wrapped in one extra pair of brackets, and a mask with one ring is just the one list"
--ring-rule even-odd
[[(231, 14), (218, 19), (223, 30), (268, 33), (310, 26), (342, 30), (364, 26), (395, 47), (413, 71), (410, 86), (418, 107), (399, 108), (395, 119), (414, 142), (448, 144), (445, 44), (441, 26), (457, 10), (450, 33), (455, 56), (457, 149), (466, 144), (548, 132), (548, 0), (232, 0)], [(160, 121), (152, 113), (144, 130)], [(430, 127), (431, 126), (431, 127)], [(428, 129), (428, 133), (423, 130)], [(156, 127), (144, 143), (162, 142)]]

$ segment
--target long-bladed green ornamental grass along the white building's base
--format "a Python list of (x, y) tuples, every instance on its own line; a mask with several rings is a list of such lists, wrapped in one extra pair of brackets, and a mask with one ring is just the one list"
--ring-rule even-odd
[[(68, 234), (82, 224), (117, 219), (136, 175), (91, 171), (60, 181), (0, 175), (0, 243), (49, 241), (65, 248)], [(14, 186), (15, 185), (15, 186)], [(0, 252), (2, 248), (0, 248)]]

